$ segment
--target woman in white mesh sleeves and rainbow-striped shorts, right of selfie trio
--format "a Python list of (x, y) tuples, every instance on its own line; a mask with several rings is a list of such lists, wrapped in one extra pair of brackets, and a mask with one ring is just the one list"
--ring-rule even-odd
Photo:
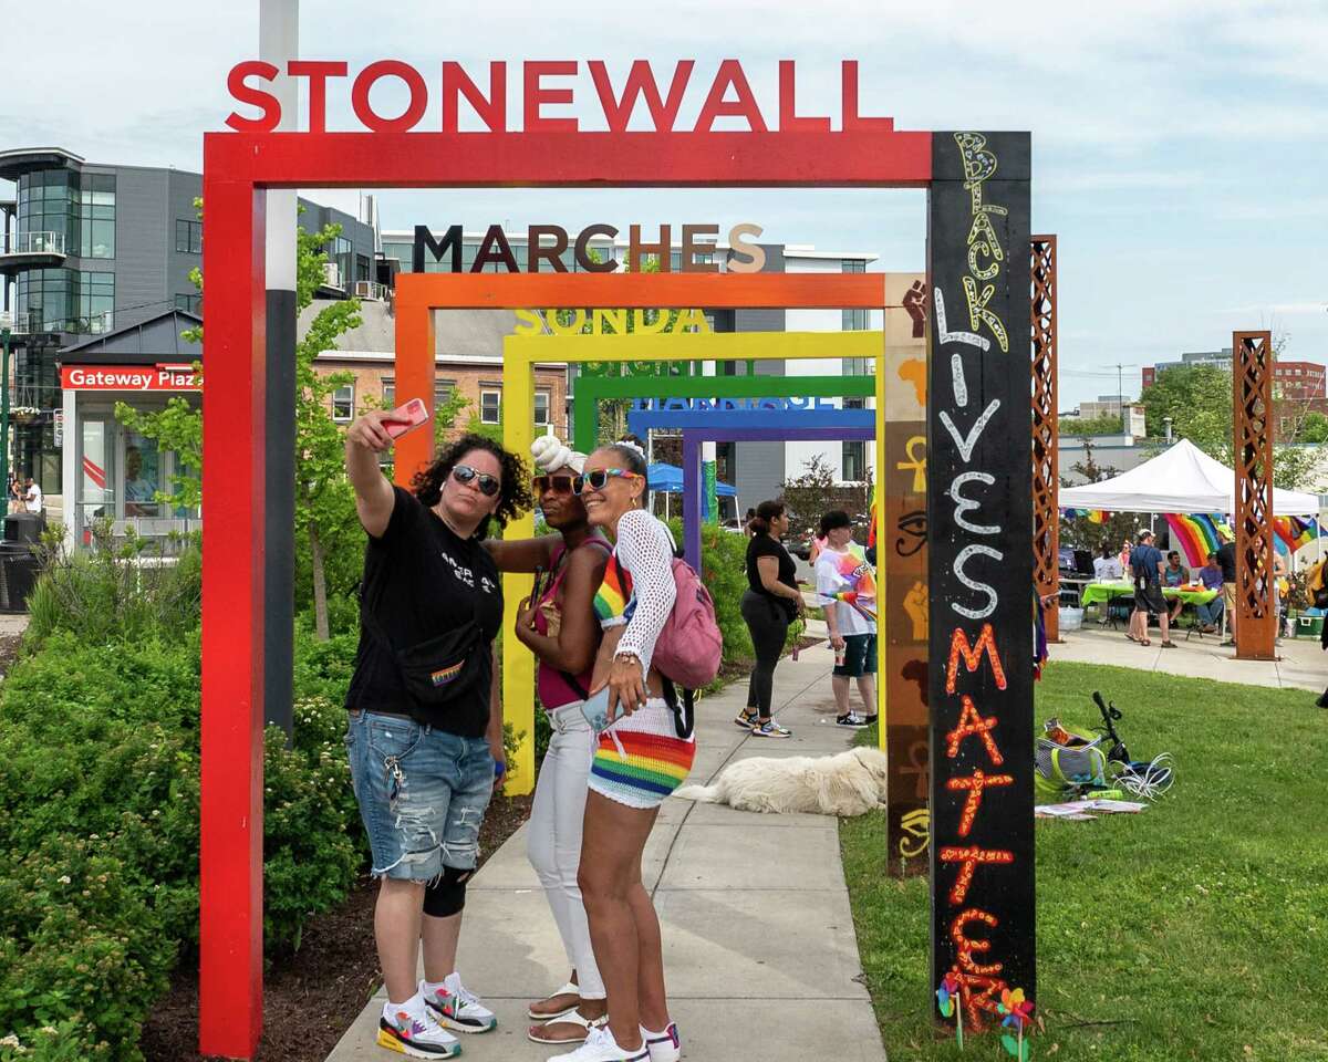
[(668, 1014), (660, 924), (641, 885), (641, 852), (659, 807), (696, 754), (681, 737), (651, 666), (673, 611), (673, 539), (641, 508), (645, 455), (631, 443), (588, 458), (575, 490), (592, 527), (614, 535), (614, 555), (595, 595), (604, 637), (591, 678), (594, 705), (607, 690), (603, 729), (590, 773), (580, 884), (591, 944), (608, 993), (608, 1024), (550, 1062), (676, 1062), (677, 1026)]

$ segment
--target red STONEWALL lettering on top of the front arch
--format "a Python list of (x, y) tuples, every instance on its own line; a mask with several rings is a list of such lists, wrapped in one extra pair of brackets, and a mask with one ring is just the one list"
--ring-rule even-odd
[[(580, 126), (574, 115), (555, 117), (544, 114), (546, 106), (568, 106), (576, 102), (576, 76), (580, 62), (576, 60), (527, 61), (521, 64), (522, 82), (522, 125), (526, 133), (578, 133)], [(684, 58), (673, 68), (673, 77), (661, 90), (655, 80), (651, 64), (643, 58), (632, 62), (631, 70), (620, 89), (615, 90), (603, 60), (588, 60), (586, 68), (599, 97), (599, 108), (611, 133), (625, 133), (628, 119), (637, 102), (644, 102), (651, 118), (651, 131), (684, 131), (676, 126), (683, 97), (692, 80), (695, 60)], [(231, 98), (239, 104), (258, 108), (256, 117), (246, 117), (231, 112), (226, 125), (240, 133), (271, 133), (282, 121), (282, 102), (262, 88), (282, 73), (279, 66), (262, 60), (248, 60), (231, 68), (226, 88)], [(309, 133), (327, 130), (328, 82), (333, 78), (349, 77), (345, 62), (292, 60), (286, 65), (286, 73), (293, 78), (308, 78)], [(405, 85), (409, 102), (400, 114), (378, 114), (369, 102), (373, 86), (384, 80)], [(507, 106), (507, 64), (489, 64), (489, 90), (471, 80), (459, 62), (444, 62), (442, 73), (430, 90), (425, 76), (414, 66), (400, 60), (378, 60), (371, 62), (356, 74), (351, 82), (351, 109), (360, 123), (373, 133), (406, 133), (416, 129), (429, 108), (430, 100), (441, 100), (441, 129), (437, 131), (456, 133), (457, 114), (461, 98), (465, 97), (471, 110), (489, 127), (490, 133), (517, 131), (510, 123), (511, 110)], [(830, 115), (798, 114), (797, 105), (797, 65), (789, 60), (780, 61), (780, 94), (774, 127), (781, 133), (829, 133)], [(736, 58), (720, 62), (710, 80), (705, 102), (689, 131), (710, 133), (720, 118), (738, 118), (746, 123), (750, 133), (768, 133), (772, 125), (766, 121), (757, 104), (756, 94), (748, 84), (742, 64)], [(843, 133), (888, 133), (894, 129), (894, 118), (869, 118), (858, 113), (858, 62), (843, 60), (839, 69), (839, 130)], [(418, 130), (425, 131), (425, 130)], [(588, 131), (588, 130), (587, 130)]]

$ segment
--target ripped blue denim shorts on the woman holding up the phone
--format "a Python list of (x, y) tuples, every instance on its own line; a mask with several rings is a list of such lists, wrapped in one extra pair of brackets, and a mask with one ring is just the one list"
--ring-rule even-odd
[(475, 868), (494, 786), (485, 738), (356, 710), (345, 745), (374, 877), (432, 881), (444, 867)]

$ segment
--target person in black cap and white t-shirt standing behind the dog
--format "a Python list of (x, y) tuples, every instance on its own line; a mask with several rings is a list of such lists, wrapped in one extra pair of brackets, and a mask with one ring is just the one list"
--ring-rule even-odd
[[(876, 720), (876, 624), (863, 615), (863, 609), (875, 613), (875, 571), (862, 547), (853, 540), (853, 522), (847, 512), (838, 508), (826, 512), (821, 518), (821, 534), (826, 544), (817, 556), (817, 593), (826, 599), (826, 627), (835, 652), (830, 680), (839, 709), (835, 722), (861, 729)], [(865, 596), (863, 588), (871, 595), (866, 600), (858, 599), (863, 608), (837, 600), (843, 593)], [(858, 682), (865, 716), (857, 716), (849, 708), (850, 678)]]

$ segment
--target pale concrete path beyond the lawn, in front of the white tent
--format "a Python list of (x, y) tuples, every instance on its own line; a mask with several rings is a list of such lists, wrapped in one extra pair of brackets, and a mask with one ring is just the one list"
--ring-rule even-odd
[(1236, 660), (1234, 646), (1219, 644), (1214, 635), (1202, 640), (1185, 640), (1185, 631), (1175, 633), (1175, 648), (1161, 648), (1161, 635), (1150, 631), (1151, 645), (1137, 645), (1125, 637), (1125, 628), (1113, 631), (1088, 624), (1080, 631), (1062, 633), (1062, 643), (1048, 646), (1050, 662), (1112, 664), (1190, 678), (1212, 678), (1267, 689), (1312, 689), (1328, 685), (1328, 656), (1319, 648), (1319, 639), (1283, 639), (1278, 660)]

